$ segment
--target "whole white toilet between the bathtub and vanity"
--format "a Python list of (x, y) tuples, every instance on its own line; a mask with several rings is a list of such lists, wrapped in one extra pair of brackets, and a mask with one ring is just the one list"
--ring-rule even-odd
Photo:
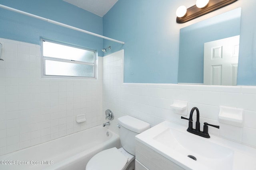
[(150, 128), (150, 124), (131, 116), (118, 118), (122, 148), (106, 149), (94, 155), (86, 170), (135, 170), (135, 136)]

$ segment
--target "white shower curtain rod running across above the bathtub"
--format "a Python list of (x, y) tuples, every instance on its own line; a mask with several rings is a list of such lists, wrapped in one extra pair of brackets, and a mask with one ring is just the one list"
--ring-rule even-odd
[(90, 35), (94, 35), (96, 37), (100, 37), (100, 38), (103, 38), (103, 39), (107, 39), (107, 40), (110, 40), (110, 41), (114, 41), (116, 43), (120, 43), (120, 44), (124, 44), (123, 41), (118, 41), (116, 39), (112, 39), (112, 38), (109, 38), (109, 37), (105, 37), (105, 36), (102, 36), (102, 35), (99, 35), (99, 34), (96, 34), (96, 33), (92, 33), (90, 31), (86, 31), (84, 29), (80, 29), (80, 28), (77, 28), (77, 27), (73, 27), (73, 26), (70, 26), (70, 25), (67, 25), (67, 24), (64, 24), (64, 23), (61, 23), (61, 22), (58, 22), (58, 21), (54, 21), (54, 20), (50, 20), (50, 19), (47, 19), (47, 18), (43, 18), (43, 17), (40, 17), (40, 16), (36, 16), (34, 14), (30, 14), (28, 12), (24, 12), (24, 11), (21, 11), (21, 10), (17, 10), (17, 9), (14, 9), (14, 8), (10, 8), (8, 6), (4, 6), (2, 4), (0, 4), (0, 8), (3, 8), (3, 9), (6, 9), (6, 10), (10, 10), (12, 12), (17, 12), (17, 13), (20, 13), (20, 14), (23, 14), (23, 15), (26, 15), (26, 16), (30, 16), (30, 17), (33, 17), (33, 18), (37, 18), (39, 20), (43, 20), (43, 21), (46, 21), (46, 22), (50, 22), (50, 23), (53, 23), (55, 25), (60, 25), (62, 27), (66, 27), (66, 28), (70, 28), (70, 29), (74, 29), (76, 31), (80, 31), (80, 32), (83, 32), (83, 33), (87, 33), (87, 34), (90, 34)]

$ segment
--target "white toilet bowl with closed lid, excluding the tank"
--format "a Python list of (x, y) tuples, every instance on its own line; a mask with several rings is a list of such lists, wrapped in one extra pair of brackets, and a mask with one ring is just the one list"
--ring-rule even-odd
[(86, 170), (134, 170), (134, 159), (135, 156), (124, 148), (114, 147), (94, 155), (87, 163)]

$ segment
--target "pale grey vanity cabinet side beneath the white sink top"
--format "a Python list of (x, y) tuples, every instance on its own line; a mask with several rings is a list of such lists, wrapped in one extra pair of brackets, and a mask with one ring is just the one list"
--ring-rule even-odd
[(177, 164), (136, 141), (136, 170), (184, 170)]

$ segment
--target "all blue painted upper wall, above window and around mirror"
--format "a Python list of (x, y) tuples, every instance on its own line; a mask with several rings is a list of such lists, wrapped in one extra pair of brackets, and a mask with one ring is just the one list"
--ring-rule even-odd
[(124, 49), (124, 82), (174, 84), (178, 82), (180, 28), (242, 7), (237, 84), (256, 85), (256, 20), (252, 19), (256, 15), (255, 0), (238, 0), (184, 24), (176, 23), (175, 12), (180, 5), (194, 5), (191, 0), (118, 0), (103, 19), (62, 0), (0, 0), (0, 4), (103, 33), (126, 44), (103, 41), (0, 8), (2, 38), (34, 44), (40, 43), (40, 37), (50, 38), (96, 49), (99, 56), (103, 55), (102, 47), (111, 45), (110, 53)]

